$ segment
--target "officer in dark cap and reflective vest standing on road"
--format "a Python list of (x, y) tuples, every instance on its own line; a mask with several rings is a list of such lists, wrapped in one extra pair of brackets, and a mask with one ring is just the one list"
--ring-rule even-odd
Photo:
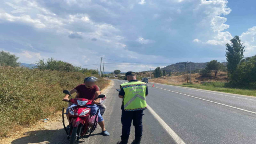
[(148, 96), (148, 86), (144, 82), (136, 80), (134, 72), (126, 72), (125, 82), (120, 85), (119, 98), (123, 98), (122, 103), (122, 136), (117, 144), (127, 144), (131, 124), (135, 127), (135, 140), (132, 144), (140, 144), (142, 137), (142, 116), (143, 110), (147, 108), (146, 96)]

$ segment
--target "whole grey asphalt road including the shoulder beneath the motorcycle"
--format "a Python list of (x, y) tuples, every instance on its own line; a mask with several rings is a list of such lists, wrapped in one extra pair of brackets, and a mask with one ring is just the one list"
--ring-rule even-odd
[[(80, 144), (116, 144), (120, 140), (121, 104), (116, 89), (124, 80), (113, 80), (105, 90), (104, 113), (110, 136), (98, 127)], [(256, 97), (148, 83), (141, 144), (256, 144)], [(52, 128), (55, 126), (56, 128)], [(68, 144), (61, 122), (50, 130), (33, 132), (12, 144)], [(129, 143), (134, 140), (134, 126)]]

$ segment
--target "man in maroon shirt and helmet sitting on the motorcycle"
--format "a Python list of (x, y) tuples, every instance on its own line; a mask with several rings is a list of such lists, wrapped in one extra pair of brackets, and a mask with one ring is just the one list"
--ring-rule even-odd
[[(95, 99), (95, 97), (98, 97), (100, 95), (99, 87), (95, 84), (95, 82), (98, 79), (94, 76), (87, 77), (84, 79), (84, 84), (80, 84), (76, 86), (76, 88), (70, 90), (70, 94), (73, 94), (75, 92), (79, 93), (79, 98), (86, 98), (88, 100), (93, 100), (94, 105), (86, 105), (86, 107), (91, 108), (91, 114), (95, 115), (97, 113), (98, 107), (96, 104), (99, 104), (100, 98)], [(68, 94), (63, 98), (63, 100), (68, 100)], [(70, 106), (67, 109), (67, 112), (69, 110)], [(102, 132), (101, 134), (103, 136), (109, 136), (109, 133), (105, 129), (104, 120), (99, 112), (98, 114), (98, 124), (100, 125)]]

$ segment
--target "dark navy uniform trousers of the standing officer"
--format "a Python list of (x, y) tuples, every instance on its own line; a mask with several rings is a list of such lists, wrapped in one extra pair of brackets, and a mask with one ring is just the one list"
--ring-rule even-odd
[[(131, 125), (135, 127), (135, 140), (140, 141), (142, 136), (142, 116), (143, 110), (136, 111), (125, 111), (124, 106), (122, 105), (122, 141), (127, 141), (129, 139)], [(133, 122), (132, 122), (133, 121)]]

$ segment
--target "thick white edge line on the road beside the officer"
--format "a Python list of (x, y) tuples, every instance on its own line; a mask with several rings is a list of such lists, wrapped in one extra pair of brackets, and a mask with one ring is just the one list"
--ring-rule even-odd
[[(118, 81), (122, 82), (120, 80)], [(183, 142), (183, 140), (170, 128), (170, 126), (168, 126), (168, 124), (164, 122), (164, 120), (162, 120), (162, 118), (160, 118), (160, 116), (158, 116), (158, 114), (156, 114), (156, 112), (148, 104), (147, 107), (151, 114), (156, 118), (156, 120), (158, 120), (158, 122), (162, 125), (162, 127), (166, 130), (166, 132), (168, 132), (168, 134), (174, 139), (177, 144), (185, 144), (185, 142)]]

